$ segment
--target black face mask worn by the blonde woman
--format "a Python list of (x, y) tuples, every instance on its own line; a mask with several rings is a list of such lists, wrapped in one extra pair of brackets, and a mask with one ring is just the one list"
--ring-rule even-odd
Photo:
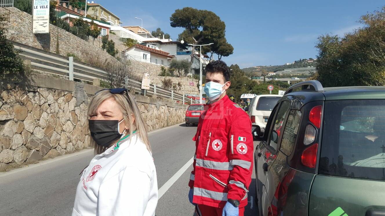
[(92, 138), (100, 146), (108, 147), (122, 136), (118, 120), (88, 120), (88, 125)]

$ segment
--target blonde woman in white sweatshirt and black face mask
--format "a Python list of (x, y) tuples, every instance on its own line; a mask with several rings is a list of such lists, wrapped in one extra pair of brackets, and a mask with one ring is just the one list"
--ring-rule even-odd
[(125, 88), (104, 89), (89, 103), (95, 157), (82, 172), (73, 216), (154, 216), (158, 188), (144, 120)]

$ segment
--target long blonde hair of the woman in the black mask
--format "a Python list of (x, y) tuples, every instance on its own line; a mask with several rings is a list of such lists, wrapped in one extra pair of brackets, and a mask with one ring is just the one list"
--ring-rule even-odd
[[(89, 106), (88, 106), (88, 116), (95, 115), (97, 113), (97, 109), (99, 105), (107, 100), (114, 99), (116, 103), (119, 105), (120, 110), (123, 113), (123, 119), (126, 125), (129, 125), (129, 135), (130, 139), (132, 137), (132, 132), (137, 131), (137, 135), (142, 140), (142, 142), (146, 145), (147, 150), (151, 153), (150, 141), (147, 135), (147, 127), (145, 126), (143, 117), (141, 112), (139, 111), (138, 105), (134, 96), (131, 93), (122, 92), (120, 94), (111, 93), (109, 90), (100, 91), (95, 96), (92, 97)], [(132, 116), (134, 116), (135, 121), (132, 124)], [(117, 142), (119, 139), (112, 141), (110, 144)], [(90, 144), (94, 145), (95, 155), (99, 155), (104, 152), (108, 147), (97, 145), (92, 136), (90, 136)]]

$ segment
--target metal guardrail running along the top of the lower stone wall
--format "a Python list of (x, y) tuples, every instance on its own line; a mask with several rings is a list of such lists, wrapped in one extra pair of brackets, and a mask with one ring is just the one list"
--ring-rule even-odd
[[(15, 49), (22, 51), (18, 55), (23, 60), (31, 61), (32, 69), (60, 75), (69, 80), (74, 80), (74, 78), (89, 82), (93, 82), (95, 78), (108, 80), (107, 72), (102, 68), (73, 60), (73, 57), (65, 57), (14, 41), (10, 42), (13, 43)], [(127, 80), (126, 83), (122, 85), (126, 85), (127, 88), (131, 88), (131, 90), (139, 95), (156, 95), (161, 98), (171, 99), (172, 101), (179, 101), (181, 104), (184, 104), (185, 102), (198, 103), (197, 100), (192, 100), (192, 98), (188, 98), (184, 94), (174, 93), (173, 90), (170, 91), (152, 84), (150, 84), (149, 90), (141, 89), (142, 83), (136, 80)]]

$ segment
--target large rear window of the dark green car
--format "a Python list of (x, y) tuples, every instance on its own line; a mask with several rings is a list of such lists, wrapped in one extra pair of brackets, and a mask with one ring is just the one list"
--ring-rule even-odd
[(325, 102), (320, 173), (385, 179), (385, 100)]

